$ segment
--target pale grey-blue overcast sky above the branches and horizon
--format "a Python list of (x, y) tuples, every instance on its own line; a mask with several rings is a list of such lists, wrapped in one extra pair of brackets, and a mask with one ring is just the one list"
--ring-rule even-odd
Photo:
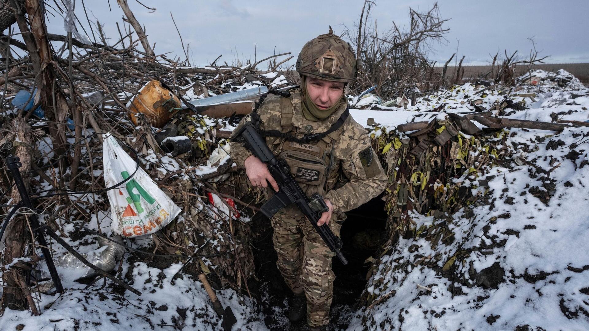
[[(73, 0), (72, 0), (73, 1)], [(217, 56), (218, 63), (229, 64), (236, 57), (257, 59), (276, 53), (293, 52), (294, 58), (306, 41), (327, 32), (331, 25), (336, 34), (345, 26), (353, 28), (358, 21), (363, 0), (339, 1), (253, 1), (253, 0), (128, 0), (135, 17), (147, 30), (150, 44), (155, 42), (158, 54), (171, 52), (185, 58), (180, 38), (170, 17), (174, 15), (184, 46), (190, 45), (188, 58), (193, 65), (207, 65)], [(58, 0), (61, 4), (61, 0)], [(48, 5), (54, 5), (51, 1)], [(392, 21), (408, 24), (409, 6), (431, 8), (433, 1), (376, 0), (372, 22), (379, 30), (388, 30)], [(114, 44), (119, 39), (118, 22), (122, 27), (123, 11), (117, 0), (85, 0), (88, 17), (104, 25)], [(550, 55), (548, 63), (589, 62), (589, 1), (438, 1), (442, 18), (450, 19), (447, 41), (435, 45), (431, 59), (445, 62), (458, 48), (466, 55), (465, 64), (487, 64), (489, 54), (519, 50), (528, 55), (534, 37), (540, 55)], [(49, 12), (55, 12), (48, 9)], [(81, 0), (75, 0), (75, 12), (90, 34)], [(50, 33), (65, 34), (64, 19), (49, 15)], [(81, 31), (82, 34), (84, 33)], [(92, 36), (90, 38), (92, 40)], [(233, 58), (232, 55), (233, 54)], [(454, 61), (453, 61), (454, 62)], [(294, 63), (294, 60), (291, 61)]]

